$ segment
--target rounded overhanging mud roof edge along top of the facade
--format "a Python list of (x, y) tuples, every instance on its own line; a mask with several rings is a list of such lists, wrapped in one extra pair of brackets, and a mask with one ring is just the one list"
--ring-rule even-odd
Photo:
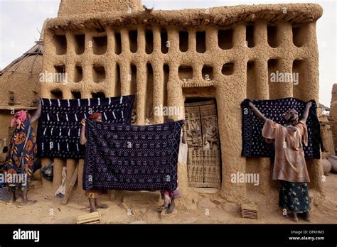
[(79, 31), (91, 28), (105, 31), (107, 26), (158, 24), (160, 26), (231, 26), (235, 23), (267, 21), (305, 23), (316, 21), (323, 9), (319, 4), (260, 4), (223, 6), (209, 9), (144, 10), (132, 13), (104, 12), (58, 16), (48, 20), (46, 28)]

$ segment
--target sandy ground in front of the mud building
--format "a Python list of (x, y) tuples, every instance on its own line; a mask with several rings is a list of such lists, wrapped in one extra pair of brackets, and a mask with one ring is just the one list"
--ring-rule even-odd
[[(337, 224), (337, 174), (329, 173), (326, 177), (326, 199), (319, 206), (311, 205), (311, 223)], [(61, 204), (62, 199), (46, 197), (41, 192), (41, 182), (33, 181), (29, 192), (30, 199), (36, 199), (36, 204), (18, 208), (16, 204), (6, 205), (0, 203), (0, 224), (75, 224), (76, 216), (89, 213), (85, 197), (75, 195), (68, 204)], [(255, 196), (255, 195), (252, 195)], [(258, 195), (256, 195), (258, 196)], [(150, 198), (150, 199), (149, 199)], [(159, 197), (147, 199), (131, 195), (124, 199), (116, 197), (109, 200), (107, 195), (102, 197), (102, 202), (109, 205), (108, 209), (100, 209), (102, 224), (289, 224), (291, 221), (282, 216), (282, 211), (277, 205), (277, 199), (271, 199), (272, 207), (259, 206), (258, 219), (243, 219), (240, 208), (230, 202), (208, 199), (203, 194), (198, 202), (184, 207), (177, 199), (177, 212), (171, 217), (161, 217), (157, 212), (161, 205)], [(275, 202), (274, 202), (275, 201)], [(193, 202), (193, 200), (191, 201)], [(85, 208), (85, 209), (84, 209)], [(272, 209), (271, 209), (272, 208)], [(299, 224), (305, 223), (304, 221)], [(293, 224), (293, 223), (291, 223)]]

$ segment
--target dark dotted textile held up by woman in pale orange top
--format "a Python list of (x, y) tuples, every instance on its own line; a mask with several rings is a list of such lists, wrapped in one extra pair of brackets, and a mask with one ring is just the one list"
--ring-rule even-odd
[[(299, 120), (304, 112), (306, 102), (294, 98), (272, 99), (272, 100), (250, 100), (242, 101), (242, 156), (253, 157), (274, 157), (274, 146), (266, 143), (262, 136), (263, 122), (253, 114), (248, 106), (249, 102), (255, 104), (257, 109), (264, 116), (277, 124), (284, 125), (282, 114), (289, 109), (295, 109), (299, 112)], [(304, 156), (309, 158), (321, 158), (321, 126), (316, 114), (316, 102), (311, 100), (312, 106), (309, 110), (309, 116), (306, 120), (308, 127), (308, 146), (304, 147)]]

